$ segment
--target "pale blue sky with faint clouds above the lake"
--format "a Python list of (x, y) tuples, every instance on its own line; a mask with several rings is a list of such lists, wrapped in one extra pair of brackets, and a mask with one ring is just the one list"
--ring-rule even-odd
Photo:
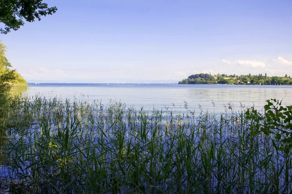
[(29, 82), (292, 76), (292, 0), (43, 0), (52, 16), (0, 34)]

